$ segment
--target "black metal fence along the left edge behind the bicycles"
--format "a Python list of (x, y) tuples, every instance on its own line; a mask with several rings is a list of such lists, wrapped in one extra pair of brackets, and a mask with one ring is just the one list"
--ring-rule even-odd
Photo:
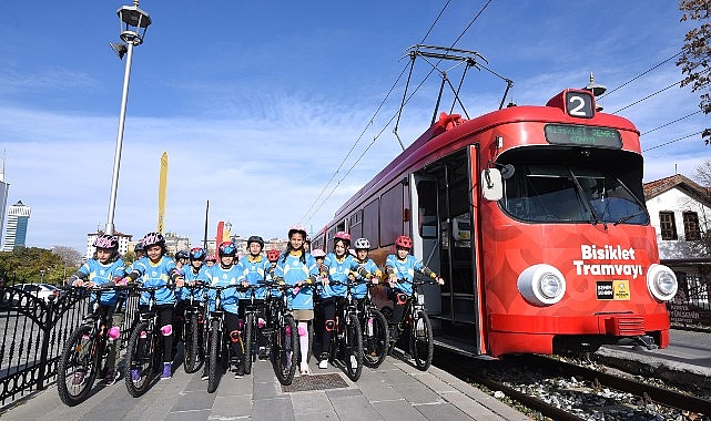
[[(44, 296), (23, 285), (0, 285), (0, 408), (57, 379), (57, 367), (71, 332), (93, 310), (83, 289), (60, 289)], [(126, 315), (134, 315), (138, 296), (128, 299)], [(121, 327), (125, 347), (133, 316)]]

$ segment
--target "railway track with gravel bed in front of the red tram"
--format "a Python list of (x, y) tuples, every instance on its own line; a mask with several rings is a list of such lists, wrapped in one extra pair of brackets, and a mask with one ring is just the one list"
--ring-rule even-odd
[(479, 360), (443, 349), (436, 352), (434, 363), (542, 418), (711, 420), (708, 399), (603, 372), (600, 366), (583, 367), (544, 356)]

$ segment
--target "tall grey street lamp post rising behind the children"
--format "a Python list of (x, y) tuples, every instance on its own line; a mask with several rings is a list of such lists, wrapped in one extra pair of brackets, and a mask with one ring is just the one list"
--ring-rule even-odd
[(113, 235), (113, 215), (116, 208), (116, 192), (119, 189), (119, 168), (121, 166), (121, 147), (123, 144), (123, 125), (125, 122), (126, 101), (129, 99), (129, 80), (131, 78), (131, 61), (133, 48), (141, 45), (145, 32), (151, 24), (149, 13), (139, 8), (139, 0), (133, 0), (133, 6), (123, 6), (116, 11), (121, 20), (120, 43), (111, 43), (111, 48), (119, 54), (119, 59), (126, 57), (125, 72), (123, 73), (123, 94), (121, 95), (121, 114), (119, 115), (119, 134), (116, 135), (116, 150), (113, 157), (113, 176), (111, 181), (111, 198), (109, 199), (109, 217), (106, 220), (105, 234)]

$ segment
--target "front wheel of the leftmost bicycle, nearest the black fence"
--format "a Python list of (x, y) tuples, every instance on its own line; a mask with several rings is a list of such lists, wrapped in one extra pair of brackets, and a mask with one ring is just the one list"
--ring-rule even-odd
[(80, 326), (69, 337), (57, 368), (59, 398), (69, 407), (87, 400), (99, 372), (99, 346), (91, 326)]

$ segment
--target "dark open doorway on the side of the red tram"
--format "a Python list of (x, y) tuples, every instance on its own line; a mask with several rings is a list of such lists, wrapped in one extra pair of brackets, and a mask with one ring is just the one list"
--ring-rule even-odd
[(426, 297), (428, 312), (443, 321), (445, 332), (471, 338), (470, 329), (460, 329), (477, 320), (469, 174), (467, 152), (458, 152), (414, 174), (412, 192), (417, 204), (413, 233), (421, 242), (421, 254), (416, 256), (446, 280), (441, 288), (435, 287), (437, 302)]

